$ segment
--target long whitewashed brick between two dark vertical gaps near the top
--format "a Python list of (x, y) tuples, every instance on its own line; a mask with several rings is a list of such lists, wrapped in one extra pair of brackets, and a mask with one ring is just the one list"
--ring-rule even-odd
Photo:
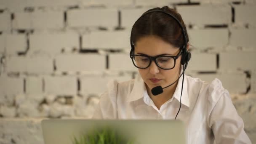
[(79, 9), (67, 12), (67, 24), (69, 27), (116, 27), (118, 25), (117, 9)]

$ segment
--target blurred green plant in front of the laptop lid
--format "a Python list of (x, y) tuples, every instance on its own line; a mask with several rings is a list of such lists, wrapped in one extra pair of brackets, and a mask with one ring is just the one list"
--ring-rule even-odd
[(134, 139), (113, 128), (99, 128), (73, 138), (73, 144), (135, 144)]

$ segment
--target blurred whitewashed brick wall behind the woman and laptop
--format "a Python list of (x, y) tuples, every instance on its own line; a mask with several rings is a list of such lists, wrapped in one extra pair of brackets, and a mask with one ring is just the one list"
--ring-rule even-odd
[(90, 118), (109, 80), (138, 75), (133, 23), (175, 8), (186, 74), (219, 78), (256, 144), (256, 0), (0, 0), (0, 144), (43, 144), (45, 118)]

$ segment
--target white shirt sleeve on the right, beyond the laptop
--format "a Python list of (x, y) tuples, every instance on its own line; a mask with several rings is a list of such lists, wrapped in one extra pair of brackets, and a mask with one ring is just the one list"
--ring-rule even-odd
[[(220, 83), (220, 81), (219, 81)], [(208, 124), (212, 128), (216, 144), (251, 144), (244, 131), (243, 119), (238, 115), (227, 90), (221, 83), (219, 90), (210, 95), (218, 95), (215, 104), (210, 106)], [(212, 103), (214, 103), (211, 101)], [(211, 105), (211, 104), (210, 104)]]

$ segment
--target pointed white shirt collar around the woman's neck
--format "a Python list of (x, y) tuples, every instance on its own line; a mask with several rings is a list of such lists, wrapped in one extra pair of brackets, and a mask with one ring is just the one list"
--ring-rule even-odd
[[(173, 93), (173, 98), (177, 99), (180, 102), (180, 95), (181, 95), (181, 87), (182, 87), (182, 78), (183, 75), (179, 78), (178, 85), (176, 87), (175, 92)], [(129, 94), (127, 101), (136, 101), (144, 97), (144, 92), (147, 92), (145, 83), (140, 75), (137, 75), (134, 81), (133, 89)], [(187, 93), (187, 78), (184, 75), (184, 83), (183, 83), (183, 91), (181, 96), (181, 103), (189, 107), (189, 97)]]

